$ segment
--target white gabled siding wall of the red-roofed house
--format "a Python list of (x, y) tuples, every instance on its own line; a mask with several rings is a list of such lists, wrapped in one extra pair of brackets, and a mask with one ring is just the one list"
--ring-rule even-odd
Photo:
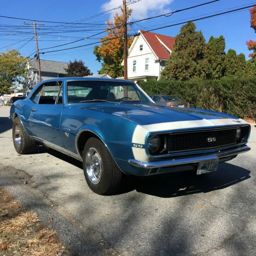
[[(143, 45), (143, 50), (140, 51), (140, 45)], [(145, 70), (145, 62), (148, 58), (148, 70)], [(136, 60), (136, 72), (133, 72), (133, 61)], [(148, 46), (148, 43), (144, 40), (142, 35), (139, 36), (134, 47), (130, 51), (127, 60), (128, 65), (128, 78), (135, 76), (153, 75), (159, 76), (160, 64), (156, 60), (156, 56)]]

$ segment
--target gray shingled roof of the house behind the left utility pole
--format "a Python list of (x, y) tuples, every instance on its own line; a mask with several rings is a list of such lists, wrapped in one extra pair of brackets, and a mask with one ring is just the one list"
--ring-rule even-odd
[[(28, 59), (28, 62), (32, 69), (38, 70), (38, 61), (34, 58)], [(60, 73), (65, 74), (66, 71), (64, 68), (68, 68), (68, 62), (60, 62), (53, 60), (40, 60), (41, 71), (42, 72), (51, 72), (51, 73)]]

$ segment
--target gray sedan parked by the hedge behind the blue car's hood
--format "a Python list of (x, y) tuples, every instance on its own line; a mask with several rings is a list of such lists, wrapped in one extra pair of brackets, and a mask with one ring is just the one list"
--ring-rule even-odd
[(150, 98), (154, 100), (157, 106), (164, 107), (180, 107), (180, 108), (189, 108), (190, 104), (184, 100), (180, 100), (174, 96), (166, 95), (150, 95)]

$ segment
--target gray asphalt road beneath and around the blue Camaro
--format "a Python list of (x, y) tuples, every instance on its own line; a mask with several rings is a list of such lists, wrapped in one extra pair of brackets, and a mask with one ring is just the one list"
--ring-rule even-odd
[(254, 126), (252, 150), (220, 164), (217, 172), (139, 178), (122, 194), (99, 196), (88, 188), (80, 162), (54, 150), (18, 155), (8, 112), (0, 107), (0, 164), (31, 175), (30, 189), (50, 198), (80, 229), (90, 230), (94, 241), (124, 256), (256, 255)]

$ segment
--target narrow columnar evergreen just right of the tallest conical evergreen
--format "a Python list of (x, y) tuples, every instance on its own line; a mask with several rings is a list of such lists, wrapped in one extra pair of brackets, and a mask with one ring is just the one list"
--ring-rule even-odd
[(223, 36), (210, 37), (205, 52), (205, 69), (207, 79), (220, 79), (224, 74), (225, 39)]

